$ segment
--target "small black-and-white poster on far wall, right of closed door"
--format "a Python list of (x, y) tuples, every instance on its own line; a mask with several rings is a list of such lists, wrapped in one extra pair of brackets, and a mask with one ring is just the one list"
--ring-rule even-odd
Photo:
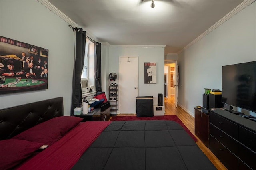
[(144, 83), (156, 84), (156, 63), (144, 63)]

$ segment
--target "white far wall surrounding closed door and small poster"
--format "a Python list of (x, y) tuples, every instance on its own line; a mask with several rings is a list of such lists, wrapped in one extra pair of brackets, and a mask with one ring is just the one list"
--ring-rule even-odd
[[(154, 104), (158, 103), (158, 93), (164, 94), (164, 45), (144, 46), (144, 45), (110, 45), (107, 50), (105, 45), (102, 52), (102, 58), (108, 57), (108, 73), (116, 73), (119, 76), (119, 57), (138, 57), (139, 65), (139, 81), (138, 91), (139, 96), (154, 97)], [(144, 84), (144, 62), (154, 62), (157, 64), (156, 84)], [(102, 74), (104, 75), (104, 74)], [(106, 89), (108, 90), (109, 79), (106, 77)], [(116, 82), (119, 82), (117, 77)], [(107, 95), (108, 93), (106, 93)], [(122, 96), (120, 96), (122, 97)], [(134, 99), (136, 100), (136, 99)]]

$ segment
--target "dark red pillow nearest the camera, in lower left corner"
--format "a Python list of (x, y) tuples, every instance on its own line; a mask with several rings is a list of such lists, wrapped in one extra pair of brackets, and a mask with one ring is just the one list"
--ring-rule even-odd
[(0, 140), (0, 169), (10, 169), (28, 158), (43, 144), (26, 140)]

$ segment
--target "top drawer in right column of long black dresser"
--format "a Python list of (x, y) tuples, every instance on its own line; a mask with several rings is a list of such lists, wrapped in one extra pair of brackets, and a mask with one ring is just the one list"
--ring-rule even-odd
[(239, 126), (239, 142), (256, 152), (256, 133)]

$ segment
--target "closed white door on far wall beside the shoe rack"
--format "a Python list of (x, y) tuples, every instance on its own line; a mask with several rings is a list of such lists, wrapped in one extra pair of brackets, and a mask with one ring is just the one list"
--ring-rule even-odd
[(138, 57), (120, 57), (119, 61), (119, 113), (136, 113)]

